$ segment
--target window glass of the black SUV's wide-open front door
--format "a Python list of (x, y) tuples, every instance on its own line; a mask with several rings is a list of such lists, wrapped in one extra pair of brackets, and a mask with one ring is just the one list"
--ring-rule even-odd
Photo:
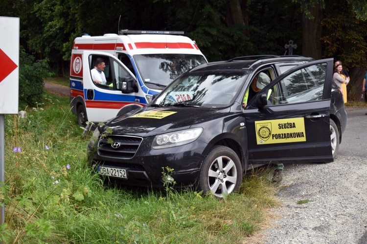
[(269, 89), (268, 104), (322, 100), (325, 78), (326, 63), (298, 69)]

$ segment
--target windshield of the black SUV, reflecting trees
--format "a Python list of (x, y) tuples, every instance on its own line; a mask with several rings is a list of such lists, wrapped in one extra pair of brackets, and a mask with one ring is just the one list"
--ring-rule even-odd
[(246, 71), (188, 73), (163, 90), (152, 106), (226, 107), (246, 77)]

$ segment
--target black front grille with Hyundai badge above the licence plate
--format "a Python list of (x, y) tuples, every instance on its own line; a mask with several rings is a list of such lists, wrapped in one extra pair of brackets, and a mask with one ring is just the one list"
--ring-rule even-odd
[(107, 135), (98, 142), (98, 155), (110, 158), (131, 159), (143, 139), (135, 136)]

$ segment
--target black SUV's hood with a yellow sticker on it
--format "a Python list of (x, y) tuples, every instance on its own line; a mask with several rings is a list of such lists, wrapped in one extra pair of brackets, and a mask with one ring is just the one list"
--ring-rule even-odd
[(164, 132), (185, 129), (229, 113), (229, 108), (202, 107), (144, 107), (132, 115), (117, 116), (106, 123), (113, 134), (154, 136)]

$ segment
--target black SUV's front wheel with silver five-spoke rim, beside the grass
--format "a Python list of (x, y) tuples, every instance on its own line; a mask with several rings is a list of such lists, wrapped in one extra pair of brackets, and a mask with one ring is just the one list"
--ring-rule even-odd
[(199, 188), (223, 198), (241, 186), (243, 170), (237, 154), (227, 146), (214, 146), (206, 156), (199, 174)]

